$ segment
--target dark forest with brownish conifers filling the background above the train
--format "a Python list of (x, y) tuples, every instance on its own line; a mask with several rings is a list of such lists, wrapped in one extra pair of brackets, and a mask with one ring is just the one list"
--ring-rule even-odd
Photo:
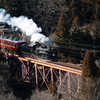
[(0, 8), (32, 18), (46, 36), (58, 30), (66, 40), (99, 44), (99, 0), (1, 0)]

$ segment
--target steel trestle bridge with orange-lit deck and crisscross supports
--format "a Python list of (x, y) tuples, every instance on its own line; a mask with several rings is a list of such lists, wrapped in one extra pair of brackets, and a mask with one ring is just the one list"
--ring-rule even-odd
[[(19, 73), (21, 69), (22, 82), (30, 82), (34, 88), (49, 90), (50, 81), (54, 82), (57, 87), (57, 93), (63, 93), (68, 97), (81, 98), (80, 85), (82, 71), (70, 66), (62, 66), (50, 63), (48, 61), (40, 61), (28, 57), (20, 57), (18, 55), (6, 54), (8, 64), (13, 67), (12, 76)], [(53, 86), (52, 86), (53, 87)]]

